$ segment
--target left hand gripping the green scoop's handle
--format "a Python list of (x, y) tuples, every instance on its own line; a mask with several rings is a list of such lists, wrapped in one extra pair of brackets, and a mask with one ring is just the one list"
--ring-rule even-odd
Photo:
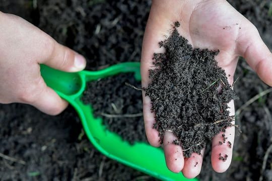
[(50, 115), (64, 110), (67, 102), (46, 86), (39, 64), (74, 72), (86, 60), (20, 17), (0, 12), (0, 103), (26, 103)]

